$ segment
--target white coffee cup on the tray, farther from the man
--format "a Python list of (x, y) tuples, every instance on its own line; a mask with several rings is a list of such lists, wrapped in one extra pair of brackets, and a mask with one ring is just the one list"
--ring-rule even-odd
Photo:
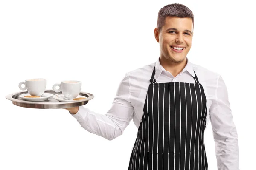
[[(25, 87), (21, 87), (21, 85)], [(20, 82), (20, 90), (27, 90), (31, 96), (41, 96), (46, 88), (46, 79), (27, 79), (25, 82)]]

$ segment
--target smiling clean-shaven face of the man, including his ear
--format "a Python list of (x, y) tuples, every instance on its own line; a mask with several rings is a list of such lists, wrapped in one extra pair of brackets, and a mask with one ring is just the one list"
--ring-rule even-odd
[(185, 61), (192, 45), (193, 22), (191, 18), (166, 17), (155, 38), (160, 44), (160, 59), (173, 63)]

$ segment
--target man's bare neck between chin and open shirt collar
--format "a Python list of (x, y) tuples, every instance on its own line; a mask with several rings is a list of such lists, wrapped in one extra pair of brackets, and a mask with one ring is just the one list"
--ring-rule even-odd
[(186, 67), (187, 64), (186, 58), (181, 62), (173, 62), (166, 59), (165, 57), (160, 57), (159, 62), (166, 71), (173, 75), (173, 77), (176, 77), (178, 74), (180, 74), (180, 72)]

